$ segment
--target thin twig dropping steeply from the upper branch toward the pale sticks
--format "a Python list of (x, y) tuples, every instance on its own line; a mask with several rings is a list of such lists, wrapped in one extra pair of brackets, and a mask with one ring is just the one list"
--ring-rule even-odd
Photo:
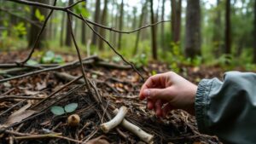
[(80, 62), (80, 66), (81, 66), (81, 71), (83, 73), (85, 86), (89, 90), (89, 92), (91, 93), (90, 84), (88, 82), (88, 79), (87, 79), (85, 71), (84, 71), (84, 65), (83, 65), (83, 61), (82, 61), (81, 55), (80, 55), (79, 46), (78, 46), (78, 43), (77, 43), (77, 41), (76, 41), (76, 39), (75, 39), (75, 37), (73, 35), (73, 28), (72, 28), (72, 21), (71, 21), (71, 18), (70, 18), (70, 14), (68, 14), (68, 13), (67, 13), (67, 18), (68, 18), (68, 26), (69, 26), (69, 28), (71, 30), (71, 36), (72, 36), (72, 39), (73, 39), (73, 43), (74, 43), (75, 48), (77, 50), (77, 53), (79, 55), (79, 62)]

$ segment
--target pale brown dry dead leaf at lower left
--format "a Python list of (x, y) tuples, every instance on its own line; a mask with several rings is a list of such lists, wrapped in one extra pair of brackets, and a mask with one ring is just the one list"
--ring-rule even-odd
[(18, 111), (11, 114), (4, 125), (9, 126), (11, 124), (18, 123), (21, 120), (28, 118), (29, 116), (37, 112), (32, 110), (26, 110), (27, 108), (31, 107), (31, 105), (31, 103), (28, 103), (24, 107), (21, 107)]

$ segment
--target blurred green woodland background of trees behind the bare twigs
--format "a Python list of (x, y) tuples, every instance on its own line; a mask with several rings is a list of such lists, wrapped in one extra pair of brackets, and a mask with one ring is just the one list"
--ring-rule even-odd
[[(53, 0), (30, 1), (54, 3)], [(75, 2), (57, 0), (56, 5), (65, 7)], [(172, 59), (167, 53), (191, 59), (198, 56), (230, 59), (243, 54), (247, 61), (256, 63), (255, 0), (96, 0), (79, 3), (71, 10), (120, 31), (171, 20), (128, 35), (93, 26), (122, 54), (150, 52), (154, 60)], [(18, 40), (27, 44), (19, 44), (20, 47), (32, 48), (48, 14), (49, 9), (0, 0), (0, 51), (9, 49)], [(73, 31), (84, 47), (109, 51), (82, 20), (73, 18)], [(55, 11), (36, 47), (72, 47), (70, 32), (67, 14)]]

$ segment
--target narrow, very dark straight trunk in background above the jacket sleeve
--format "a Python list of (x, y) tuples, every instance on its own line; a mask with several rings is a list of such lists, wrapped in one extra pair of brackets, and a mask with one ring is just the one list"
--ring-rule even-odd
[(231, 37), (230, 37), (230, 0), (226, 0), (225, 13), (225, 54), (231, 54)]

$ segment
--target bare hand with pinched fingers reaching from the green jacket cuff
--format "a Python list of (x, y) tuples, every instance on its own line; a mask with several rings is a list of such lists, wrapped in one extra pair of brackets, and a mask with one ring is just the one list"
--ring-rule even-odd
[(175, 72), (156, 74), (143, 84), (139, 97), (148, 101), (158, 117), (165, 117), (172, 109), (183, 109), (194, 114), (197, 86)]

